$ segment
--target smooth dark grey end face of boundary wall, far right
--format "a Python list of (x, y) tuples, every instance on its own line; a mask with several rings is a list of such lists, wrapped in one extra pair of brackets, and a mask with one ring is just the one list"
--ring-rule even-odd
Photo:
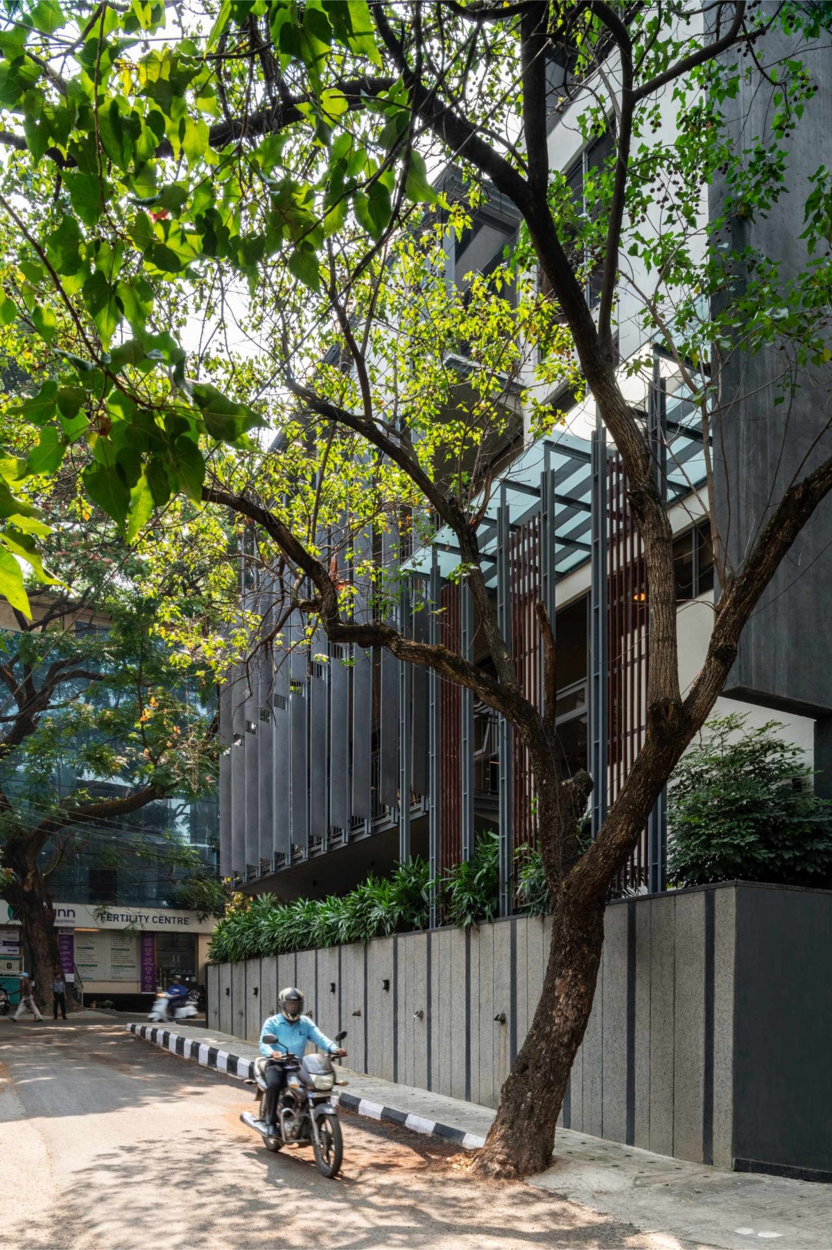
[(832, 1180), (832, 894), (736, 899), (735, 1156)]

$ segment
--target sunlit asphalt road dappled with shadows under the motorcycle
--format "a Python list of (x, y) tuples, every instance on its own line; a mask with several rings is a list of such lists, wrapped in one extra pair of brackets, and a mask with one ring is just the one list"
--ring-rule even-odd
[(455, 1148), (344, 1118), (336, 1181), (271, 1155), (230, 1078), (124, 1026), (0, 1022), (4, 1250), (655, 1250), (521, 1184), (475, 1181)]

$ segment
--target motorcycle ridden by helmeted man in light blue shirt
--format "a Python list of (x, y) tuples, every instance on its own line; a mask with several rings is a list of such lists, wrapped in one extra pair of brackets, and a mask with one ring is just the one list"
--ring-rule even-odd
[[(339, 1032), (335, 1040), (340, 1042), (345, 1038), (346, 1032)], [(269, 1046), (280, 1045), (274, 1034), (266, 1034), (262, 1040)], [(255, 1060), (255, 1080), (246, 1081), (247, 1085), (257, 1086), (255, 1099), (259, 1110), (266, 1092), (266, 1066), (274, 1062), (281, 1064), (286, 1071), (286, 1084), (277, 1100), (279, 1135), (269, 1135), (269, 1126), (260, 1115), (244, 1111), (240, 1119), (259, 1132), (266, 1148), (275, 1152), (290, 1145), (307, 1146), (311, 1141), (321, 1175), (337, 1176), (344, 1160), (344, 1139), (337, 1104), (332, 1101), (331, 1091), (335, 1085), (346, 1085), (346, 1081), (336, 1080), (329, 1055), (304, 1055), (302, 1059), (289, 1051), (277, 1059), (260, 1055)]]

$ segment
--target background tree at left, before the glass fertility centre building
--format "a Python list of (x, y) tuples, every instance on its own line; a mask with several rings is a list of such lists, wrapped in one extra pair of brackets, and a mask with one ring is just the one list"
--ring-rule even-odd
[[(25, 342), (9, 331), (4, 346), (26, 359)], [(26, 365), (20, 385), (31, 390), (42, 361), (29, 352)], [(12, 462), (25, 465), (39, 455), (40, 431), (10, 415), (15, 404), (20, 395), (6, 398), (0, 421), (6, 448), (17, 452)], [(40, 570), (42, 556), (51, 575), (9, 605), (0, 631), (2, 894), (21, 921), (40, 992), (59, 962), (55, 869), (101, 834), (111, 866), (125, 858), (169, 871), (192, 866), (190, 845), (147, 824), (151, 805), (199, 798), (216, 775), (212, 674), (184, 662), (160, 636), (164, 586), (149, 586), (151, 559), (79, 495), (90, 459), (80, 444), (54, 476), (36, 472), (21, 484), (27, 532), (41, 539), (27, 555)], [(187, 600), (184, 565), (165, 555), (161, 562), (167, 585)]]

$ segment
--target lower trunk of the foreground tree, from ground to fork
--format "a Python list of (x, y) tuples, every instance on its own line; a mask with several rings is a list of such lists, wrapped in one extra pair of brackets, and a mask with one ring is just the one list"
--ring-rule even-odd
[(555, 915), (543, 990), (502, 1086), (500, 1110), (475, 1170), (511, 1179), (550, 1166), (566, 1082), (583, 1040), (603, 946), (603, 900)]

